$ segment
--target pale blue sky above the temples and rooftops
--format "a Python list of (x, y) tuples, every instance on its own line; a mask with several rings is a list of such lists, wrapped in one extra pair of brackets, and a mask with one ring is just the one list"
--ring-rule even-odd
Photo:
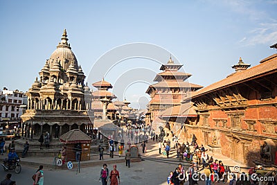
[[(189, 82), (207, 86), (233, 73), (242, 60), (255, 66), (276, 53), (277, 1), (0, 1), (0, 88), (27, 91), (55, 51), (64, 28), (86, 76), (107, 51), (132, 42), (156, 44), (193, 74)], [(149, 100), (148, 85), (161, 64), (130, 59), (105, 76), (116, 84), (118, 76), (134, 69), (149, 69), (148, 82), (136, 82), (116, 95), (134, 107)], [(131, 70), (131, 71), (132, 71)], [(130, 75), (129, 75), (130, 76)], [(134, 72), (136, 80), (143, 73)], [(102, 76), (94, 76), (101, 80)], [(93, 78), (93, 79), (94, 79)], [(128, 78), (125, 77), (125, 78)], [(154, 83), (154, 82), (152, 82)], [(91, 86), (91, 85), (90, 85)], [(148, 98), (148, 99), (147, 99)]]

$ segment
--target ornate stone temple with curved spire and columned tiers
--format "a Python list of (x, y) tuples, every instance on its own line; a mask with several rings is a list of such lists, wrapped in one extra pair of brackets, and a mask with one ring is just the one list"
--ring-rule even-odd
[(68, 40), (64, 30), (62, 41), (26, 93), (28, 105), (21, 116), (21, 135), (26, 138), (45, 132), (52, 137), (73, 129), (86, 132), (92, 127), (87, 114), (90, 105), (84, 101), (89, 87), (84, 85), (84, 73)]

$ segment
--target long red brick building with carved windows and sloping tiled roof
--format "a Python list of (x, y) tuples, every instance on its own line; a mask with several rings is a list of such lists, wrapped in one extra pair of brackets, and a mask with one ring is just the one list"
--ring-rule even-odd
[[(275, 44), (276, 45), (276, 44)], [(276, 163), (277, 54), (249, 68), (241, 58), (235, 73), (192, 94), (199, 118), (186, 124), (186, 139), (195, 134), (199, 144), (244, 164)], [(261, 158), (264, 141), (267, 159)]]

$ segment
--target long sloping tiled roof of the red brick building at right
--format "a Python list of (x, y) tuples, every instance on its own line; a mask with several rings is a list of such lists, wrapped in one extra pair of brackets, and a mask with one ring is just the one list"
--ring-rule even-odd
[(262, 62), (261, 64), (251, 67), (250, 69), (233, 73), (233, 75), (228, 78), (224, 78), (218, 82), (204, 87), (199, 91), (192, 92), (191, 98), (196, 98), (202, 96), (203, 94), (208, 94), (212, 91), (217, 91), (218, 89), (223, 89), (229, 86), (237, 85), (242, 82), (247, 82), (251, 79), (264, 76), (267, 73), (276, 73), (277, 72), (277, 54), (269, 56), (267, 62)]

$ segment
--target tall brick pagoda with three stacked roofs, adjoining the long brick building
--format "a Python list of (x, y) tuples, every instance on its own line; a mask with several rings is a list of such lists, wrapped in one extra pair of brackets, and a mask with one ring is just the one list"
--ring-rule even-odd
[(183, 64), (175, 64), (171, 56), (167, 64), (161, 65), (160, 70), (163, 72), (158, 73), (154, 78), (157, 83), (150, 85), (146, 91), (152, 98), (148, 103), (148, 113), (145, 118), (147, 124), (160, 122), (160, 112), (169, 107), (181, 105), (181, 101), (189, 96), (190, 91), (202, 88), (201, 85), (184, 82), (192, 75), (180, 72), (181, 67)]

